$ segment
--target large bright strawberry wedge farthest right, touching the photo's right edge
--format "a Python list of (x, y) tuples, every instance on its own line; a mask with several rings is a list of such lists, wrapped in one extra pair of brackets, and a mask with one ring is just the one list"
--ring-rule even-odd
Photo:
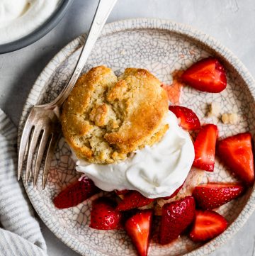
[(220, 140), (217, 143), (217, 155), (239, 179), (249, 185), (254, 183), (251, 133), (239, 133)]

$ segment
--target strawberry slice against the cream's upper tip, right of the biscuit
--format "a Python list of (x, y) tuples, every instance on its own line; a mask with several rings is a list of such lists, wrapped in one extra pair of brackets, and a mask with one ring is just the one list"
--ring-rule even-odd
[(200, 128), (200, 121), (196, 113), (190, 108), (185, 106), (169, 106), (169, 110), (172, 111), (177, 118), (181, 119), (180, 126), (186, 130), (196, 130)]

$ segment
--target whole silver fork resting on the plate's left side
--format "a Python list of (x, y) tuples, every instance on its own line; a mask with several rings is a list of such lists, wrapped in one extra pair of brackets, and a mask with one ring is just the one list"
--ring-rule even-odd
[(118, 0), (99, 0), (94, 19), (91, 23), (91, 28), (89, 29), (89, 35), (81, 49), (79, 60), (77, 61), (77, 65), (74, 68), (69, 82), (54, 101), (49, 104), (35, 105), (30, 111), (23, 128), (19, 146), (18, 180), (21, 178), (23, 162), (26, 160), (27, 155), (26, 183), (28, 183), (30, 172), (32, 170), (33, 186), (35, 187), (38, 180), (42, 157), (46, 152), (45, 167), (42, 172), (42, 189), (45, 188), (47, 174), (50, 169), (50, 160), (60, 134), (60, 108), (67, 99), (74, 84), (77, 82), (79, 74), (81, 74), (81, 70), (96, 43), (96, 39), (101, 33), (101, 30), (117, 1)]

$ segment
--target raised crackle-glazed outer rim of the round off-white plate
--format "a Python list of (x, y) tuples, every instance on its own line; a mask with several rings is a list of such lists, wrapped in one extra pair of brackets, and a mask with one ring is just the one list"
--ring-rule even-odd
[[(227, 62), (236, 69), (237, 73), (244, 79), (244, 82), (246, 83), (251, 96), (255, 99), (255, 80), (249, 73), (248, 69), (244, 67), (242, 62), (225, 46), (223, 46), (219, 41), (217, 41), (215, 38), (213, 38), (210, 35), (207, 35), (200, 30), (193, 28), (192, 26), (178, 23), (175, 21), (171, 21), (168, 19), (160, 19), (160, 18), (130, 18), (120, 21), (114, 21), (112, 23), (106, 24), (106, 26), (103, 28), (103, 31), (101, 33), (101, 36), (111, 35), (113, 33), (118, 33), (120, 31), (124, 30), (132, 30), (132, 29), (157, 29), (157, 30), (167, 30), (171, 33), (179, 33), (181, 35), (186, 35), (188, 38), (191, 38), (193, 40), (197, 40), (200, 43), (205, 44), (210, 49), (215, 50), (217, 54), (221, 55), (222, 58), (225, 58)], [(68, 43), (60, 52), (55, 55), (55, 57), (50, 60), (50, 62), (46, 65), (46, 67), (42, 70), (40, 73), (38, 79), (35, 81), (35, 84), (33, 85), (30, 94), (28, 95), (28, 99), (26, 100), (26, 104), (24, 104), (23, 112), (21, 115), (21, 120), (18, 126), (18, 145), (19, 140), (21, 138), (21, 133), (23, 129), (23, 124), (26, 121), (26, 116), (28, 116), (28, 113), (30, 111), (30, 107), (35, 104), (33, 102), (33, 98), (36, 95), (40, 94), (40, 91), (42, 89), (42, 77), (50, 72), (51, 67), (57, 67), (58, 65), (61, 65), (64, 60), (66, 60), (69, 55), (72, 55), (72, 52), (76, 51), (81, 43), (83, 42), (84, 38), (83, 36), (79, 36), (78, 38), (75, 38), (70, 43)], [(75, 49), (74, 49), (75, 48)], [(55, 60), (57, 59), (57, 66)], [(26, 185), (25, 182), (25, 172), (23, 172), (23, 184), (26, 189), (26, 192), (28, 194), (28, 197), (33, 204), (33, 201), (38, 203), (38, 199), (40, 199), (40, 192), (35, 192), (33, 190), (33, 185), (29, 186)], [(255, 187), (255, 185), (254, 185)], [(225, 230), (224, 233), (221, 235), (218, 235), (216, 238), (210, 240), (210, 242), (205, 243), (198, 247), (197, 249), (186, 253), (188, 256), (199, 256), (199, 255), (208, 255), (209, 253), (216, 250), (221, 245), (225, 244), (229, 238), (232, 238), (237, 231), (244, 226), (244, 223), (248, 220), (249, 216), (251, 216), (251, 213), (255, 209), (255, 189), (252, 187), (251, 194), (249, 196), (249, 199), (247, 200), (244, 208), (239, 213), (237, 218), (233, 223), (229, 225), (227, 230)], [(40, 202), (39, 202), (40, 203)], [(41, 202), (40, 204), (33, 204), (33, 207), (35, 208), (35, 211), (37, 211), (38, 215), (42, 219), (42, 221), (45, 223), (45, 225), (54, 233), (57, 238), (62, 240), (64, 244), (75, 250), (76, 252), (79, 252), (81, 255), (106, 255), (103, 252), (98, 252), (94, 248), (89, 247), (88, 245), (81, 245), (81, 242), (77, 238), (70, 238), (67, 230), (60, 226), (57, 221), (55, 221), (54, 217), (52, 218), (49, 214), (42, 214), (44, 211), (42, 209), (44, 208), (45, 211), (47, 208), (45, 205)], [(57, 226), (56, 226), (57, 225)]]

